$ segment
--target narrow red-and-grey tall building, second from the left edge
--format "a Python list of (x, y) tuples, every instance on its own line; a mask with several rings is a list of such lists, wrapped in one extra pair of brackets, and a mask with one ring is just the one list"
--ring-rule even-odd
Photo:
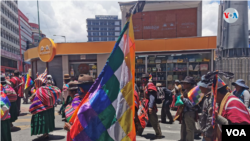
[(28, 44), (32, 42), (32, 31), (29, 25), (29, 19), (22, 13), (22, 11), (18, 10), (19, 17), (19, 36), (20, 36), (20, 49), (21, 49), (21, 66), (20, 70), (22, 72), (28, 72), (30, 68), (30, 62), (24, 62), (24, 52), (28, 49)]

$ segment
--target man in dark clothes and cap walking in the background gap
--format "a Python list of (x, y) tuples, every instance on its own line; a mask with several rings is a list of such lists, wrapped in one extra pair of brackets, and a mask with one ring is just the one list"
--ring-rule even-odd
[(166, 121), (166, 116), (168, 116), (170, 124), (173, 123), (173, 117), (172, 114), (170, 113), (170, 104), (173, 101), (172, 98), (172, 92), (167, 89), (166, 87), (162, 87), (161, 83), (156, 83), (156, 87), (158, 92), (164, 93), (164, 102), (162, 103), (162, 109), (161, 109), (161, 123), (167, 123)]

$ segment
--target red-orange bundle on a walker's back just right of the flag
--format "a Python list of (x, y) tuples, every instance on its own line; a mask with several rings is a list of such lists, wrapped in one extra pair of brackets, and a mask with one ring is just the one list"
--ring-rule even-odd
[(138, 119), (142, 128), (145, 128), (148, 124), (148, 100), (142, 99), (139, 104), (139, 109), (137, 112)]

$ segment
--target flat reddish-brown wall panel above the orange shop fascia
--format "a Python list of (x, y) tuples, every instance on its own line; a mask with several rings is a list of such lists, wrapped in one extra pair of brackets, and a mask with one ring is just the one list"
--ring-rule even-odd
[(133, 25), (135, 39), (197, 36), (197, 8), (137, 13)]

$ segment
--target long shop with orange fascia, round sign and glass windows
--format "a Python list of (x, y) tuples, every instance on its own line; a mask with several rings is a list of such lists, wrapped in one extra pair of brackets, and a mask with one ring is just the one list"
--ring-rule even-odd
[[(174, 80), (193, 76), (196, 81), (213, 70), (213, 50), (216, 37), (136, 40), (136, 83), (140, 87), (141, 75), (150, 73), (153, 82), (172, 86)], [(32, 75), (47, 68), (57, 85), (63, 84), (63, 74), (77, 78), (90, 74), (94, 78), (102, 71), (115, 45), (111, 42), (53, 43), (43, 39), (37, 48), (25, 52), (25, 61), (31, 61)]]

